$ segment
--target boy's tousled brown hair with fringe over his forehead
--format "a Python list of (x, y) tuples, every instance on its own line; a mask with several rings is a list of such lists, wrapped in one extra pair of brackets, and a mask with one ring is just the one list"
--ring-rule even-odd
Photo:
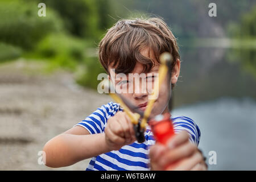
[(116, 73), (130, 73), (137, 61), (143, 64), (144, 72), (149, 72), (154, 61), (141, 55), (144, 48), (154, 52), (158, 63), (161, 53), (170, 52), (174, 58), (171, 70), (180, 59), (175, 36), (160, 18), (119, 20), (106, 32), (98, 48), (100, 62), (108, 74), (109, 65), (117, 66)]

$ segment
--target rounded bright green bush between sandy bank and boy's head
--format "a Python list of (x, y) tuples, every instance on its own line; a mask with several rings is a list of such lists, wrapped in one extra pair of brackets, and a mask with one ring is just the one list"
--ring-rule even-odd
[(97, 76), (104, 69), (97, 57), (89, 53), (91, 44), (67, 34), (49, 34), (38, 43), (33, 55), (29, 56), (48, 60), (48, 72), (57, 68), (67, 69), (76, 73), (77, 83), (97, 89)]

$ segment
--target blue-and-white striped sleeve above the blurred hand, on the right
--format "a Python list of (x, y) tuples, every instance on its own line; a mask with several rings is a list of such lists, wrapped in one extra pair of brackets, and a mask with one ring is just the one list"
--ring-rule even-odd
[(191, 118), (184, 116), (172, 118), (172, 123), (174, 125), (175, 133), (186, 130), (190, 135), (189, 140), (197, 146), (199, 145), (201, 132), (199, 127)]

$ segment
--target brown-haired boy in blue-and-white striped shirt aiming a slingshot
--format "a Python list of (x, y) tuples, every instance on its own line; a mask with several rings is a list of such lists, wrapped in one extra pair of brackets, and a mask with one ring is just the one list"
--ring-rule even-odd
[[(166, 23), (159, 18), (119, 20), (99, 45), (100, 61), (109, 80), (121, 90), (134, 86), (133, 92), (121, 94), (141, 110), (146, 108), (149, 96), (142, 82), (154, 82), (157, 78), (159, 55), (163, 52), (170, 52), (174, 59), (169, 68), (172, 74), (159, 88), (151, 117), (169, 112), (171, 89), (180, 73), (176, 39)], [(115, 73), (146, 76), (134, 85), (133, 80), (117, 78)], [(168, 146), (155, 143), (150, 127), (144, 133), (146, 140), (138, 143), (129, 117), (119, 104), (110, 102), (49, 140), (44, 146), (46, 166), (70, 166), (92, 158), (86, 170), (164, 170), (166, 166), (167, 170), (207, 169), (197, 149), (200, 130), (196, 123), (187, 117), (172, 118), (172, 121), (176, 135)]]

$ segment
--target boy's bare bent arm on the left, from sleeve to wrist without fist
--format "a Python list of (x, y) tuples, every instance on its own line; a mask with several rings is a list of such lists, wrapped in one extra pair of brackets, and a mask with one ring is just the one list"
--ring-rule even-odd
[(65, 167), (106, 152), (109, 147), (105, 134), (93, 134), (81, 126), (75, 126), (49, 140), (43, 151), (48, 167)]

